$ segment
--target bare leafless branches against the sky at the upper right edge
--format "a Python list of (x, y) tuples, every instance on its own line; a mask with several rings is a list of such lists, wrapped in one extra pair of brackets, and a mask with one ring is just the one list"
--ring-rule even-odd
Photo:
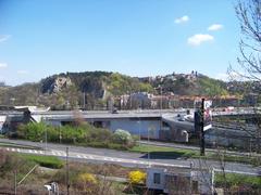
[(235, 10), (243, 34), (237, 61), (245, 73), (239, 75), (261, 81), (261, 1), (238, 0)]

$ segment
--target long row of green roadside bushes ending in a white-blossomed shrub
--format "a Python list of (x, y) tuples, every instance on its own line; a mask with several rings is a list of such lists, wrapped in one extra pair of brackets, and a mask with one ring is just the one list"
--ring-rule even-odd
[(107, 147), (115, 150), (127, 150), (132, 147), (135, 142), (133, 141), (129, 132), (124, 130), (116, 130), (112, 133), (108, 129), (96, 128), (89, 123), (80, 126), (61, 126), (54, 127), (44, 122), (29, 122), (21, 125), (17, 129), (17, 136), (30, 141), (61, 142), (69, 144), (78, 144), (92, 147)]

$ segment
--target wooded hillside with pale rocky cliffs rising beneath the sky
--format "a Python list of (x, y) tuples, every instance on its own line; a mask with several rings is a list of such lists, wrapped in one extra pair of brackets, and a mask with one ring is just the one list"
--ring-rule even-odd
[(2, 105), (51, 106), (53, 109), (74, 107), (105, 108), (108, 100), (123, 94), (149, 92), (177, 95), (228, 94), (227, 83), (207, 76), (171, 74), (134, 78), (119, 73), (85, 72), (53, 75), (36, 83), (0, 88)]

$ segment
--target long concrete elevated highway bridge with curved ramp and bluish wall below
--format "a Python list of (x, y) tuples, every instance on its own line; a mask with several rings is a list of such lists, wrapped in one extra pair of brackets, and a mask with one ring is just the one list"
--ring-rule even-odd
[[(194, 113), (194, 109), (189, 109)], [(196, 134), (194, 122), (177, 117), (187, 114), (187, 109), (140, 109), (140, 110), (119, 110), (111, 113), (108, 110), (47, 110), (38, 109), (34, 106), (16, 107), (14, 110), (2, 110), (0, 116), (2, 120), (15, 122), (45, 121), (53, 126), (62, 126), (73, 123), (75, 120), (84, 120), (96, 127), (108, 128), (111, 131), (124, 129), (132, 134), (141, 138), (156, 140), (169, 140), (178, 142), (188, 142), (190, 136)], [(256, 113), (252, 108), (237, 108), (233, 112), (214, 110), (213, 117), (248, 117), (252, 118)], [(1, 120), (0, 117), (0, 120)], [(4, 118), (5, 117), (5, 118)], [(0, 121), (1, 122), (1, 121)], [(3, 123), (3, 122), (2, 122)], [(11, 127), (12, 128), (12, 127)], [(3, 129), (0, 123), (0, 129)], [(245, 131), (244, 131), (245, 130)], [(238, 140), (249, 140), (254, 132), (254, 127), (227, 126), (219, 122), (213, 123), (213, 128), (207, 133), (209, 143), (224, 142), (228, 145), (227, 138), (233, 143)], [(238, 139), (240, 138), (240, 139)], [(240, 141), (239, 141), (240, 142)], [(239, 143), (241, 144), (241, 143)]]

